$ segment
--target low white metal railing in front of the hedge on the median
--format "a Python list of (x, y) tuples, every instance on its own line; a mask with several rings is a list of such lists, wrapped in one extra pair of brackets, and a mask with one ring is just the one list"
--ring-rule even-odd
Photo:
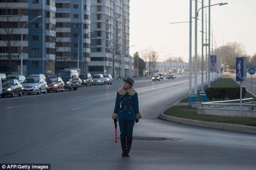
[[(223, 106), (223, 108), (225, 109), (226, 106), (240, 106), (240, 103), (236, 103), (236, 101), (240, 102), (240, 99), (203, 102), (201, 104), (202, 104), (202, 107), (205, 107), (205, 108), (207, 108), (207, 106), (210, 107), (214, 105), (214, 106)], [(242, 103), (242, 106), (251, 106), (256, 111), (256, 104), (253, 104), (254, 103), (253, 98), (242, 99), (242, 101), (244, 101), (244, 103)], [(245, 101), (248, 101), (248, 102), (245, 104)], [(232, 103), (232, 102), (235, 102), (235, 103)], [(252, 104), (249, 104), (249, 103), (252, 103)]]

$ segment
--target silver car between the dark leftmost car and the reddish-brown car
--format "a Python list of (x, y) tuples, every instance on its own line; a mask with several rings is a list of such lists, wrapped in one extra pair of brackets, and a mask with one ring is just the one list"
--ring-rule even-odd
[(44, 94), (47, 93), (47, 83), (46, 81), (40, 76), (40, 77), (28, 77), (24, 80), (22, 83), (23, 85), (23, 93), (37, 93), (41, 94), (41, 92), (44, 92)]

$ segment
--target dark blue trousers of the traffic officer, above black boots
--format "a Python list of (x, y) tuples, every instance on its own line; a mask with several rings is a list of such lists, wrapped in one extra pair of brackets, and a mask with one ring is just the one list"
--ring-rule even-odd
[(120, 138), (132, 138), (134, 120), (132, 121), (122, 121), (118, 120), (120, 129)]

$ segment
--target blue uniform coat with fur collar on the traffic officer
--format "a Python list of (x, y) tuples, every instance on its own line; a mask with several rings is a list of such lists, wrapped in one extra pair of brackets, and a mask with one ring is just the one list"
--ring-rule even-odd
[[(132, 108), (127, 107), (122, 110), (119, 109), (120, 103), (122, 103), (122, 105), (129, 105), (125, 99), (121, 98), (123, 95), (125, 96), (125, 99), (130, 102)], [(123, 86), (119, 88), (116, 94), (114, 113), (118, 114), (119, 120), (135, 120), (135, 114), (139, 113), (139, 100), (138, 94), (134, 90), (133, 86), (128, 90), (125, 90)]]

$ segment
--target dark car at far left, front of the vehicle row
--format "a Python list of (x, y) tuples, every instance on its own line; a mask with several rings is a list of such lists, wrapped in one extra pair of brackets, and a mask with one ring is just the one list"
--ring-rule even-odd
[(22, 96), (23, 87), (17, 79), (5, 79), (2, 80), (2, 94), (1, 96), (11, 96), (15, 95)]

